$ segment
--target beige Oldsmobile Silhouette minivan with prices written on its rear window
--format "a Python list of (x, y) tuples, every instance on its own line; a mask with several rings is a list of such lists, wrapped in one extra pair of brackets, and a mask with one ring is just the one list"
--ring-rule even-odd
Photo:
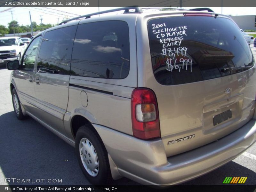
[(193, 10), (105, 12), (120, 10), (47, 29), (7, 64), (16, 116), (73, 145), (95, 185), (179, 184), (250, 147), (255, 61), (236, 23)]

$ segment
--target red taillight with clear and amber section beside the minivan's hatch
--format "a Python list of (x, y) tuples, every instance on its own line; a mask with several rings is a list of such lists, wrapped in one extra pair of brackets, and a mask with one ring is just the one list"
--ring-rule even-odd
[(158, 107), (155, 93), (146, 88), (136, 88), (132, 92), (132, 132), (133, 136), (149, 140), (160, 137)]

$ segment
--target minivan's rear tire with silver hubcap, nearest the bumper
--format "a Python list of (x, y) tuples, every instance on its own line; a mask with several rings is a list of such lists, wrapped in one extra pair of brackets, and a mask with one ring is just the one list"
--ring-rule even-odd
[[(83, 125), (78, 129), (75, 150), (80, 168), (90, 183), (93, 185), (108, 185), (112, 182), (108, 152), (92, 125)], [(94, 169), (97, 166), (98, 170), (97, 168)]]

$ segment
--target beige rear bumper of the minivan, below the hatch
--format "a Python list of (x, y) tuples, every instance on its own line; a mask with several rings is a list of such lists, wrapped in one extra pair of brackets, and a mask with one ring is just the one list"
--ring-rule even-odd
[(166, 157), (161, 139), (143, 141), (100, 125), (93, 126), (107, 148), (112, 175), (119, 174), (145, 185), (174, 185), (196, 178), (236, 158), (256, 140), (256, 121), (252, 119), (218, 141)]

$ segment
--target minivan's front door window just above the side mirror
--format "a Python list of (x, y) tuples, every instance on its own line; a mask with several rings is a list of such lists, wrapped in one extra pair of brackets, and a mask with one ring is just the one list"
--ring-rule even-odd
[(33, 39), (31, 44), (29, 44), (28, 49), (24, 53), (21, 68), (28, 69), (28, 70), (34, 69), (34, 64), (36, 60), (36, 51), (37, 51), (37, 47), (40, 42), (40, 39), (41, 39), (41, 36), (38, 36), (35, 39)]

